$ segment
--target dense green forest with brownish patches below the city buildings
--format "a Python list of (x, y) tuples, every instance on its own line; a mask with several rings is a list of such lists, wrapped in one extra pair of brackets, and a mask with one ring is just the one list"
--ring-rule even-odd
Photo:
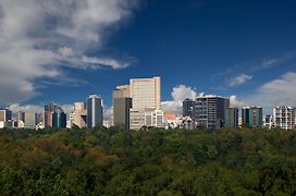
[(296, 195), (296, 131), (0, 131), (0, 195)]

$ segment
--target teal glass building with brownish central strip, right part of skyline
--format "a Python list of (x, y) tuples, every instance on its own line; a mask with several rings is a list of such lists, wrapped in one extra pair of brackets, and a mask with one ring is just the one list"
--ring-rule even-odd
[(242, 125), (248, 127), (263, 126), (263, 109), (261, 107), (244, 107), (242, 109)]

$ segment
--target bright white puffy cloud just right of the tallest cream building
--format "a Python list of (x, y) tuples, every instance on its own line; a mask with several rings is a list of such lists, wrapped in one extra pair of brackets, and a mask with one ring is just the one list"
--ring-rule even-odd
[(195, 99), (197, 93), (190, 87), (186, 87), (185, 85), (178, 85), (173, 88), (172, 97), (173, 100), (163, 101), (161, 103), (163, 111), (174, 112), (177, 115), (182, 115), (182, 106), (183, 101), (186, 98)]

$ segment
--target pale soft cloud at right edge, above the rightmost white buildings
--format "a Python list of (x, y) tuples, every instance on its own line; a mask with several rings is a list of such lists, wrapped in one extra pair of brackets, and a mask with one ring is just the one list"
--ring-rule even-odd
[(248, 102), (262, 107), (281, 105), (296, 106), (296, 72), (288, 72), (280, 78), (261, 85), (254, 95), (246, 97)]

